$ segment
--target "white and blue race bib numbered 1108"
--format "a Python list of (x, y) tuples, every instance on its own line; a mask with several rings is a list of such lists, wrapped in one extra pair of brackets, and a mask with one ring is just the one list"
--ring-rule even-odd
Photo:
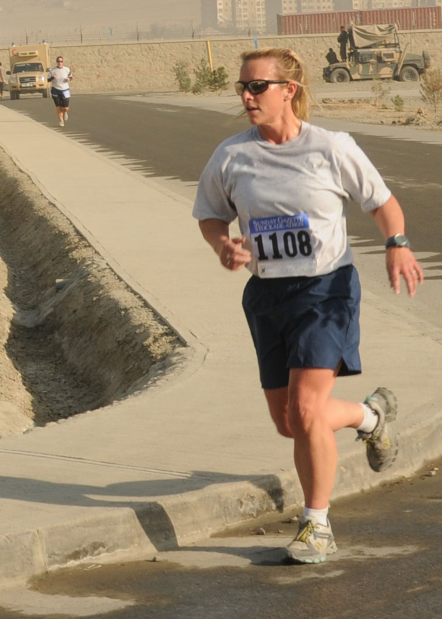
[(306, 213), (251, 219), (249, 227), (260, 277), (314, 274), (313, 243)]

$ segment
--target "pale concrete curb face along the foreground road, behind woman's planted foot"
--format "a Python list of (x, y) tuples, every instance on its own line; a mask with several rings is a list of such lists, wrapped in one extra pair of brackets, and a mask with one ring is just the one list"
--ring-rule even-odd
[[(416, 417), (422, 418), (421, 413), (425, 413), (423, 422), (401, 433), (392, 469), (372, 472), (360, 445), (340, 459), (332, 500), (412, 475), (439, 457), (442, 394), (438, 402), (417, 410)], [(217, 483), (133, 508), (100, 508), (90, 517), (2, 536), (0, 582), (11, 586), (45, 571), (91, 561), (152, 560), (157, 552), (207, 539), (259, 516), (301, 509), (302, 500), (292, 470), (245, 482)]]

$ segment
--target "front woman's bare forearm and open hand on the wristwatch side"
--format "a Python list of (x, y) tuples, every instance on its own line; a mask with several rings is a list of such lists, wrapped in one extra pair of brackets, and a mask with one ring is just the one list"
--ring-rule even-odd
[[(405, 234), (404, 214), (394, 196), (390, 196), (383, 206), (373, 210), (371, 214), (385, 239), (396, 234)], [(410, 297), (414, 297), (417, 282), (423, 282), (423, 272), (414, 254), (407, 247), (389, 247), (386, 252), (387, 272), (394, 292), (397, 295), (401, 292), (402, 275)]]

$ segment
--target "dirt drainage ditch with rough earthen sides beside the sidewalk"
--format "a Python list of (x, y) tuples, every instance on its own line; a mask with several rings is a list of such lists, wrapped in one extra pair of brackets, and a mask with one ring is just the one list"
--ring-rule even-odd
[(183, 344), (0, 152), (0, 437), (123, 399)]

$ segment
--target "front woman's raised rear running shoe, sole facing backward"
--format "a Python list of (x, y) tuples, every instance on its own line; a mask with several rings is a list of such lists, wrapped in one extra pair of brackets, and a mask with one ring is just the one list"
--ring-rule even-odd
[(362, 439), (365, 443), (371, 469), (380, 473), (391, 467), (399, 449), (397, 436), (388, 426), (396, 419), (396, 396), (389, 389), (378, 387), (371, 396), (366, 397), (365, 404), (378, 415), (378, 425), (370, 433), (358, 431), (357, 440)]

